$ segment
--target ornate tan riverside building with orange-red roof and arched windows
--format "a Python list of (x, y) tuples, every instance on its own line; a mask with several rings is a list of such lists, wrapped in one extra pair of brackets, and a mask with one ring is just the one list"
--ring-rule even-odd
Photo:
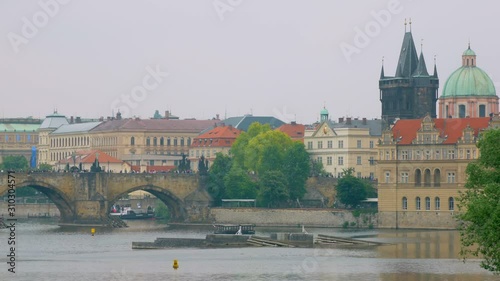
[(453, 217), (481, 131), (500, 118), (398, 120), (378, 144), (378, 211), (383, 228), (456, 228)]

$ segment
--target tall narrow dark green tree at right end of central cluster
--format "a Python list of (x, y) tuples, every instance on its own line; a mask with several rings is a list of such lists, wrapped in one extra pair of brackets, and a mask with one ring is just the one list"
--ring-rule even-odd
[(283, 173), (287, 178), (290, 199), (301, 199), (306, 193), (306, 181), (309, 177), (309, 153), (304, 144), (293, 142), (285, 152)]

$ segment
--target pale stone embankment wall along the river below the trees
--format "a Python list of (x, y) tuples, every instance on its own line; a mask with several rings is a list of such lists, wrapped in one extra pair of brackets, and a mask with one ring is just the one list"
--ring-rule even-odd
[(333, 209), (261, 209), (261, 208), (212, 208), (213, 223), (255, 224), (257, 226), (315, 226), (377, 227), (376, 213), (361, 213), (355, 216), (350, 211)]

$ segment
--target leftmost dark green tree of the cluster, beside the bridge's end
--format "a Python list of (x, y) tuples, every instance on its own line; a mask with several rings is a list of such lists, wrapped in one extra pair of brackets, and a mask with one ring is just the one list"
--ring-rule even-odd
[(216, 206), (221, 205), (221, 199), (226, 197), (224, 177), (229, 173), (232, 159), (228, 155), (217, 153), (208, 174), (207, 190), (214, 199)]

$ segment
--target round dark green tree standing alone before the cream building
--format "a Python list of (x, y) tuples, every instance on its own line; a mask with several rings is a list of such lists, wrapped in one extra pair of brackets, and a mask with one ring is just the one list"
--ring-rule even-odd
[(354, 169), (344, 169), (342, 177), (337, 182), (337, 198), (347, 207), (355, 208), (362, 200), (366, 199), (368, 189), (366, 181), (355, 177)]

